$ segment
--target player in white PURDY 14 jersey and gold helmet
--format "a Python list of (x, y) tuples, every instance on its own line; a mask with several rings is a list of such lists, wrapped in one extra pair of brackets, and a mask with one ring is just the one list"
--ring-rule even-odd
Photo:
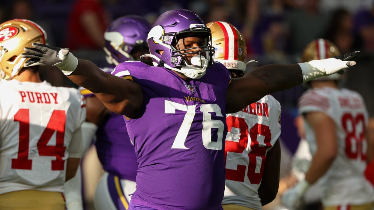
[(38, 63), (24, 67), (21, 58), (46, 39), (32, 21), (0, 25), (0, 209), (65, 209), (64, 182), (82, 155), (82, 95), (42, 82)]

